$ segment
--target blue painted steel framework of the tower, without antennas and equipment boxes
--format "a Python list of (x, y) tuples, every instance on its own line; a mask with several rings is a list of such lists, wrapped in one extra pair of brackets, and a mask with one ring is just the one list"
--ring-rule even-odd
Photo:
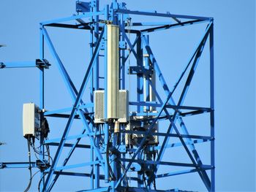
[[(45, 171), (42, 170), (41, 172), (41, 178), (42, 183), (40, 185), (41, 191), (50, 191), (53, 186), (55, 185), (56, 181), (58, 180), (59, 176), (61, 175), (70, 175), (70, 176), (82, 176), (82, 177), (90, 177), (91, 178), (91, 191), (118, 191), (120, 188), (127, 185), (126, 182), (124, 182), (124, 177), (126, 177), (127, 172), (130, 169), (130, 166), (132, 163), (139, 163), (139, 164), (156, 164), (157, 166), (154, 166), (154, 174), (151, 174), (150, 177), (148, 177), (148, 185), (146, 188), (148, 190), (151, 190), (151, 184), (152, 181), (155, 178), (162, 178), (162, 177), (170, 177), (178, 174), (187, 174), (191, 172), (197, 172), (200, 175), (200, 178), (203, 180), (203, 183), (206, 185), (206, 188), (208, 191), (215, 191), (215, 163), (214, 163), (214, 23), (213, 18), (206, 18), (206, 17), (197, 17), (197, 16), (188, 16), (188, 15), (173, 15), (170, 13), (158, 13), (158, 12), (140, 12), (140, 11), (132, 11), (129, 9), (126, 9), (125, 4), (118, 4), (117, 1), (113, 0), (113, 3), (109, 7), (108, 5), (105, 6), (105, 9), (102, 11), (99, 11), (99, 0), (91, 0), (90, 3), (90, 12), (82, 12), (80, 15), (73, 15), (72, 17), (68, 18), (61, 18), (57, 20), (50, 20), (46, 22), (40, 23), (40, 50), (39, 55), (40, 59), (45, 59), (45, 42), (48, 44), (48, 47), (50, 48), (50, 53), (53, 55), (53, 58), (56, 60), (56, 65), (59, 69), (59, 72), (61, 73), (61, 76), (64, 80), (64, 83), (67, 87), (67, 90), (69, 91), (69, 95), (72, 98), (73, 101), (73, 107), (69, 107), (67, 109), (61, 109), (61, 110), (55, 110), (52, 112), (44, 112), (42, 114), (42, 117), (47, 117), (50, 115), (56, 115), (56, 117), (64, 118), (64, 115), (58, 115), (62, 112), (70, 112), (70, 114), (67, 114), (68, 122), (67, 126), (64, 129), (63, 136), (60, 139), (49, 139), (45, 140), (44, 138), (40, 138), (40, 160), (45, 161), (45, 147), (44, 145), (50, 145), (55, 142), (56, 145), (58, 145), (58, 148), (56, 150), (56, 155), (53, 158), (53, 164), (50, 166), (49, 169), (46, 169)], [(153, 28), (144, 28), (141, 30), (127, 30), (127, 16), (124, 15), (143, 15), (143, 16), (153, 16), (153, 17), (163, 17), (163, 18), (172, 18), (173, 22), (167, 22), (167, 23), (130, 23), (131, 27), (135, 26), (156, 26)], [(102, 20), (99, 19), (99, 17), (103, 17)], [(91, 22), (89, 23), (83, 23), (83, 18), (90, 18)], [(72, 25), (72, 24), (64, 24), (65, 22), (69, 21), (78, 21), (80, 24)], [(101, 21), (101, 23), (99, 23)], [(137, 66), (140, 66), (141, 69), (143, 69), (143, 54), (148, 54), (149, 61), (154, 66), (154, 70), (159, 78), (159, 82), (162, 85), (162, 88), (165, 91), (165, 94), (167, 98), (163, 101), (161, 99), (161, 96), (159, 96), (157, 92), (157, 88), (154, 87), (151, 80), (149, 80), (148, 74), (138, 74), (137, 75), (137, 101), (129, 101), (129, 105), (135, 105), (138, 108), (138, 114), (137, 115), (154, 115), (156, 118), (152, 120), (151, 126), (148, 128), (148, 131), (139, 132), (139, 131), (127, 131), (125, 130), (124, 126), (121, 127), (121, 135), (124, 136), (125, 134), (143, 134), (144, 137), (142, 141), (140, 142), (140, 145), (134, 149), (127, 149), (127, 153), (131, 152), (133, 153), (132, 158), (127, 158), (127, 155), (124, 153), (121, 155), (111, 155), (110, 159), (112, 161), (111, 163), (111, 169), (113, 169), (114, 173), (118, 176), (117, 180), (110, 180), (110, 166), (108, 165), (108, 153), (106, 153), (106, 150), (108, 149), (109, 145), (109, 136), (113, 138), (113, 145), (114, 147), (118, 145), (125, 145), (124, 142), (118, 142), (118, 138), (120, 139), (117, 134), (111, 133), (109, 131), (108, 123), (104, 124), (104, 132), (101, 133), (99, 131), (100, 127), (96, 126), (94, 124), (93, 118), (90, 115), (90, 112), (94, 112), (93, 103), (94, 103), (94, 92), (95, 90), (99, 89), (99, 50), (103, 49), (105, 50), (105, 69), (107, 68), (107, 30), (106, 30), (106, 23), (113, 23), (119, 26), (121, 31), (121, 42), (126, 42), (127, 46), (129, 47), (128, 50), (120, 50), (120, 88), (125, 89), (125, 68), (126, 68), (126, 62), (129, 58), (129, 53), (132, 53), (135, 55)], [(151, 47), (149, 46), (148, 35), (151, 32), (159, 31), (159, 30), (166, 30), (170, 28), (176, 28), (181, 26), (189, 26), (196, 23), (208, 23), (208, 26), (206, 28), (206, 33), (203, 35), (203, 38), (200, 40), (200, 43), (197, 45), (195, 51), (193, 52), (191, 58), (189, 58), (189, 62), (187, 66), (185, 67), (184, 71), (181, 73), (181, 76), (179, 77), (178, 81), (176, 82), (176, 85), (173, 87), (173, 89), (170, 91), (170, 89), (167, 86), (167, 83), (162, 75), (162, 72), (159, 68), (159, 64), (157, 63), (156, 58), (154, 57), (154, 54), (152, 53)], [(64, 68), (64, 65), (61, 62), (61, 59), (59, 58), (59, 55), (56, 53), (55, 48), (53, 47), (53, 43), (51, 42), (51, 39), (49, 37), (48, 31), (46, 30), (46, 26), (55, 26), (55, 27), (64, 27), (64, 28), (81, 28), (81, 29), (89, 29), (91, 36), (90, 36), (90, 45), (91, 45), (91, 61), (89, 63), (88, 69), (86, 71), (85, 77), (83, 79), (82, 85), (80, 86), (79, 91), (75, 88), (75, 85), (73, 84), (71, 78), (69, 77), (69, 74), (67, 70)], [(85, 27), (87, 26), (87, 27)], [(84, 28), (83, 28), (84, 27)], [(100, 32), (101, 31), (101, 32)], [(100, 32), (100, 35), (99, 35)], [(135, 42), (130, 42), (129, 37), (127, 37), (127, 32), (131, 34), (136, 34)], [(209, 37), (209, 38), (208, 38)], [(187, 91), (189, 89), (189, 84), (192, 80), (193, 74), (195, 73), (196, 66), (198, 64), (198, 61), (200, 59), (200, 55), (203, 52), (203, 47), (206, 45), (206, 40), (209, 42), (210, 47), (210, 95), (211, 95), (211, 102), (210, 107), (191, 107), (191, 106), (182, 106), (182, 103), (184, 101), (184, 98), (187, 94)], [(125, 53), (128, 52), (128, 55)], [(39, 107), (41, 109), (45, 109), (45, 93), (44, 93), (44, 78), (45, 78), (45, 66), (38, 66), (37, 62), (15, 62), (15, 63), (0, 63), (0, 68), (20, 68), (20, 67), (35, 67), (37, 66), (39, 68), (39, 85), (40, 85), (40, 99), (39, 99)], [(148, 64), (146, 64), (148, 66)], [(189, 70), (190, 67), (190, 70)], [(181, 79), (184, 78), (185, 72), (189, 70), (189, 75), (187, 77), (187, 81), (184, 85), (184, 89), (181, 93), (181, 96), (178, 100), (178, 104), (174, 101), (172, 98), (173, 92), (176, 90), (177, 85), (179, 82), (181, 82)], [(145, 71), (146, 72), (146, 71)], [(107, 106), (107, 70), (105, 70), (105, 106)], [(146, 93), (143, 92), (143, 80), (146, 80)], [(87, 83), (91, 80), (91, 97), (90, 102), (86, 103), (82, 101), (83, 92), (86, 88)], [(157, 99), (159, 103), (157, 102), (148, 102), (144, 101), (143, 94), (148, 95), (148, 88), (151, 86), (152, 90), (157, 96)], [(169, 104), (170, 102), (170, 104)], [(143, 111), (143, 107), (156, 107), (158, 112), (157, 113), (147, 113)], [(91, 110), (89, 110), (91, 109)], [(107, 115), (107, 107), (105, 107), (105, 115)], [(168, 109), (173, 110), (173, 113), (170, 114), (170, 111)], [(181, 110), (192, 110), (191, 112), (182, 113)], [(193, 111), (194, 110), (194, 111)], [(203, 112), (209, 112), (210, 113), (210, 121), (211, 121), (211, 136), (193, 136), (189, 134), (189, 131), (187, 130), (187, 127), (184, 124), (184, 120), (182, 117), (186, 115), (197, 115)], [(163, 113), (163, 115), (162, 115)], [(132, 115), (131, 115), (132, 116)], [(76, 136), (69, 136), (69, 130), (72, 126), (72, 121), (75, 119), (75, 117), (80, 118), (83, 122), (83, 130), (79, 135)], [(158, 120), (170, 120), (170, 126), (167, 129), (166, 133), (154, 133), (153, 127), (154, 124), (157, 123)], [(182, 134), (178, 131), (178, 128), (176, 126), (176, 121), (178, 120), (178, 123), (181, 127)], [(172, 134), (173, 131), (176, 131), (176, 134)], [(153, 146), (149, 147), (148, 150), (159, 150), (159, 155), (157, 156), (156, 161), (146, 160), (143, 161), (142, 159), (136, 158), (137, 155), (139, 155), (141, 149), (143, 148), (143, 145), (146, 143), (146, 138), (149, 135), (158, 135), (161, 137), (164, 137), (164, 141), (162, 142), (162, 145), (159, 146)], [(83, 137), (89, 137), (90, 145), (88, 146), (82, 146), (79, 145), (80, 139)], [(95, 138), (94, 138), (95, 137)], [(181, 142), (178, 143), (172, 143), (168, 145), (170, 137), (178, 137)], [(104, 138), (104, 147), (103, 150), (99, 149), (99, 140)], [(69, 139), (76, 139), (74, 143), (67, 144), (66, 141)], [(194, 140), (193, 140), (194, 139)], [(197, 153), (197, 150), (195, 149), (195, 144), (200, 142), (211, 142), (211, 164), (206, 165), (203, 164), (200, 160), (200, 156)], [(192, 164), (184, 164), (184, 163), (176, 163), (176, 162), (165, 162), (162, 161), (163, 154), (165, 153), (165, 149), (167, 147), (178, 147), (183, 146), (184, 149), (187, 151), (187, 154), (189, 155), (189, 158), (192, 161)], [(188, 147), (189, 146), (189, 147)], [(59, 162), (59, 157), (61, 155), (61, 152), (64, 147), (71, 147), (69, 150), (69, 153), (67, 157), (65, 158), (63, 164), (61, 166), (57, 166)], [(75, 165), (67, 165), (69, 158), (72, 156), (72, 153), (75, 151), (76, 147), (84, 147), (84, 148), (90, 148), (91, 151), (91, 161), (86, 162), (83, 164), (75, 164)], [(102, 153), (103, 151), (103, 153)], [(121, 172), (121, 168), (117, 166), (116, 158), (118, 158), (118, 161), (121, 162), (121, 164), (124, 166), (124, 170)], [(127, 164), (128, 163), (128, 164)], [(12, 168), (12, 167), (27, 167), (26, 163), (5, 163), (5, 165), (8, 165), (6, 167), (1, 168)], [(157, 174), (158, 167), (160, 165), (169, 165), (169, 166), (191, 166), (193, 169), (186, 169), (179, 172), (171, 172), (171, 173), (165, 173), (165, 174)], [(33, 164), (34, 167), (37, 167)], [(73, 169), (76, 167), (81, 166), (91, 166), (91, 173), (85, 174), (85, 173), (75, 173), (75, 172), (63, 172), (65, 169)], [(100, 174), (100, 167), (102, 167), (102, 172), (105, 174)], [(208, 177), (208, 174), (206, 173), (206, 170), (211, 170), (211, 177)], [(55, 174), (55, 177), (53, 178), (53, 175)], [(47, 175), (46, 179), (45, 176)], [(211, 180), (210, 180), (211, 178)], [(135, 180), (138, 182), (138, 187), (143, 190), (143, 182), (141, 175), (138, 175), (138, 177), (131, 177), (132, 180)], [(106, 183), (110, 182), (110, 185), (108, 188), (100, 188), (99, 180), (105, 180)], [(135, 191), (140, 191), (140, 189), (132, 189)]]

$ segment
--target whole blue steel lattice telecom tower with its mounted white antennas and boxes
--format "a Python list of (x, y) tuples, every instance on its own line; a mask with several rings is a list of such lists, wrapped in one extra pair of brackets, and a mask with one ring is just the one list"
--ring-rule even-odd
[[(127, 9), (127, 4), (116, 0), (99, 9), (99, 0), (77, 1), (76, 15), (40, 23), (40, 58), (32, 62), (1, 62), (0, 68), (37, 67), (39, 69), (39, 104), (23, 104), (23, 136), (28, 147), (39, 155), (37, 161), (3, 162), (0, 168), (27, 167), (39, 169), (39, 191), (51, 191), (59, 177), (89, 177), (91, 185), (83, 191), (181, 191), (162, 189), (158, 180), (167, 180), (180, 174), (199, 174), (207, 191), (215, 191), (214, 183), (214, 20), (189, 15), (173, 15), (170, 12), (142, 12)], [(133, 22), (132, 15), (143, 18), (166, 18), (167, 22)], [(171, 21), (170, 21), (171, 20)], [(149, 37), (154, 31), (189, 27), (196, 23), (206, 24), (189, 61), (173, 88), (161, 72), (150, 46)], [(80, 88), (76, 87), (53, 45), (48, 28), (72, 28), (90, 34), (90, 62)], [(134, 41), (132, 38), (135, 39)], [(206, 43), (209, 43), (209, 90), (208, 107), (184, 106), (189, 85), (192, 82)], [(55, 62), (50, 64), (45, 55), (48, 46)], [(135, 63), (128, 64), (131, 55)], [(73, 101), (72, 106), (48, 110), (45, 101), (45, 70), (56, 65)], [(100, 74), (103, 74), (100, 76)], [(127, 86), (129, 78), (135, 77), (135, 92)], [(173, 99), (178, 85), (182, 85), (178, 101)], [(131, 85), (129, 85), (131, 86)], [(90, 88), (90, 91), (86, 91)], [(159, 90), (165, 95), (159, 94)], [(87, 99), (85, 99), (87, 95)], [(132, 108), (133, 107), (133, 108)], [(131, 109), (136, 109), (132, 111)], [(209, 114), (210, 135), (192, 135), (184, 123), (187, 116)], [(67, 120), (60, 130), (61, 137), (50, 138), (48, 118)], [(74, 120), (80, 120), (80, 134), (70, 135)], [(161, 127), (160, 122), (167, 123)], [(86, 138), (89, 144), (82, 144)], [(170, 142), (172, 138), (179, 142)], [(211, 164), (203, 164), (197, 153), (197, 143), (210, 143)], [(39, 147), (35, 147), (39, 144)], [(56, 147), (51, 154), (50, 147)], [(183, 147), (190, 162), (163, 161), (165, 150)], [(67, 148), (67, 150), (64, 150)], [(76, 149), (90, 154), (89, 161), (69, 164)], [(30, 154), (30, 153), (29, 153)], [(65, 158), (61, 156), (66, 155)], [(81, 158), (83, 159), (83, 158)], [(88, 166), (90, 172), (73, 169)], [(159, 173), (159, 167), (179, 167), (176, 172)], [(132, 175), (131, 175), (132, 172)], [(130, 175), (128, 175), (128, 173)], [(31, 174), (32, 175), (32, 174)], [(32, 177), (32, 176), (31, 176)], [(132, 180), (129, 182), (129, 180)], [(31, 181), (31, 180), (30, 180)], [(29, 183), (26, 191), (29, 191)], [(188, 190), (188, 189), (186, 189)]]

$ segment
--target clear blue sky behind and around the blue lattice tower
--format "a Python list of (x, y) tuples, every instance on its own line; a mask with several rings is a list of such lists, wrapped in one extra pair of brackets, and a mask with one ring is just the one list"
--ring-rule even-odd
[[(100, 1), (102, 5), (106, 2), (110, 1)], [(255, 191), (255, 1), (131, 0), (125, 2), (127, 8), (132, 10), (170, 11), (173, 14), (214, 18), (216, 188), (217, 191)], [(74, 12), (74, 0), (1, 0), (0, 44), (7, 47), (0, 48), (0, 62), (34, 61), (35, 58), (39, 58), (39, 22), (66, 17)], [(189, 33), (181, 32), (181, 37), (178, 37), (179, 31), (176, 31), (173, 32), (173, 37), (170, 33), (170, 39), (167, 40), (164, 39), (167, 34), (162, 34), (160, 38), (152, 37), (154, 52), (164, 74), (168, 74), (168, 70), (171, 69), (165, 64), (168, 59), (178, 64), (187, 61), (187, 51), (195, 46), (194, 42), (198, 42), (197, 39), (200, 37), (200, 34), (197, 34), (199, 29), (199, 27), (192, 29), (191, 36)], [(76, 74), (75, 70), (76, 67), (83, 66), (79, 64), (78, 58), (88, 59), (88, 34), (71, 30), (63, 32), (49, 30), (49, 32), (52, 33), (51, 37), (56, 38), (53, 38), (53, 42), (62, 41), (56, 49), (59, 50), (61, 58), (69, 64), (67, 69), (75, 83), (79, 85), (83, 73)], [(74, 38), (66, 38), (71, 33), (74, 34)], [(184, 47), (184, 42), (190, 43), (190, 47)], [(160, 47), (157, 47), (158, 43)], [(174, 52), (178, 50), (184, 50), (184, 55)], [(53, 58), (49, 56), (48, 60), (53, 61)], [(73, 67), (76, 62), (78, 66)], [(203, 69), (200, 68), (201, 72)], [(49, 88), (45, 93), (48, 106), (55, 109), (65, 103), (64, 107), (69, 107), (67, 103), (70, 103), (70, 100), (66, 96), (67, 91), (62, 91), (64, 86), (60, 77), (54, 76), (53, 72), (56, 72), (54, 67), (53, 72), (50, 70), (47, 76), (49, 78), (46, 80)], [(203, 85), (204, 77), (198, 78), (199, 85)], [(0, 142), (7, 143), (0, 146), (0, 162), (28, 161), (26, 140), (23, 139), (22, 134), (22, 105), (29, 101), (39, 103), (38, 85), (37, 69), (0, 69)], [(197, 90), (200, 91), (200, 88)], [(202, 101), (203, 98), (204, 96), (192, 97), (191, 100)], [(51, 126), (61, 128), (63, 125)], [(58, 133), (53, 131), (52, 134)], [(34, 178), (32, 191), (37, 191), (38, 178), (38, 175)], [(70, 191), (74, 185), (78, 186), (78, 189), (83, 189), (79, 184), (83, 181), (80, 178), (74, 182), (74, 185), (67, 184), (67, 181), (60, 180), (55, 191)], [(89, 185), (88, 181), (84, 182)], [(186, 180), (186, 186), (191, 185), (197, 190), (204, 190), (202, 185), (196, 185), (192, 181), (194, 180)], [(28, 182), (27, 169), (0, 169), (0, 191), (23, 191)], [(183, 182), (178, 180), (177, 185), (182, 185)]]

